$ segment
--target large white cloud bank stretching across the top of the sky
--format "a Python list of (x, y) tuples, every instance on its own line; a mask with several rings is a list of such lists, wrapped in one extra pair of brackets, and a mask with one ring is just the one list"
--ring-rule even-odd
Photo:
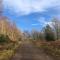
[[(60, 0), (3, 0), (5, 8), (16, 14), (43, 12), (50, 7), (60, 7)], [(59, 8), (60, 9), (60, 8)]]

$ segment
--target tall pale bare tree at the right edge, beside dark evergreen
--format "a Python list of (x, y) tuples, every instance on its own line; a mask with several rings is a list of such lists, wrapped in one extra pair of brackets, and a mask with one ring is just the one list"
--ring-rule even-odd
[(60, 39), (60, 21), (57, 18), (52, 20), (52, 26), (55, 31), (56, 40)]

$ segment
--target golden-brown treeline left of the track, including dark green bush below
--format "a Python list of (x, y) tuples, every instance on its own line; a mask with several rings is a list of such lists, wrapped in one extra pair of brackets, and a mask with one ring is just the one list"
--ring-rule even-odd
[(21, 31), (7, 17), (0, 17), (0, 43), (16, 42), (21, 39)]

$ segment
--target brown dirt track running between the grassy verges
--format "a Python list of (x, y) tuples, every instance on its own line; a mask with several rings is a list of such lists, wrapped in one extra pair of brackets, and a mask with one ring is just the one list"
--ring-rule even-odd
[(23, 43), (16, 54), (10, 60), (53, 60), (42, 50), (34, 47), (31, 43)]

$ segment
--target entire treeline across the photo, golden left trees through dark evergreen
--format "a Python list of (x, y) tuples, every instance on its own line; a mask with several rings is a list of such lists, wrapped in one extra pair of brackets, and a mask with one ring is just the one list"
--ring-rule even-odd
[(47, 24), (41, 31), (32, 30), (22, 33), (7, 17), (0, 17), (0, 42), (18, 40), (60, 40), (60, 20), (52, 19), (51, 24)]

